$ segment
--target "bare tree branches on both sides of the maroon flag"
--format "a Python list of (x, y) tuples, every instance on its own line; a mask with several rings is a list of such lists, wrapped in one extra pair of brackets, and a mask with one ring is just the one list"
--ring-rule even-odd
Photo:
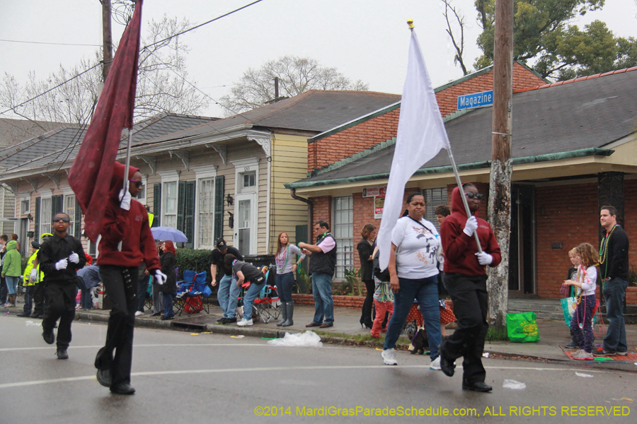
[[(142, 45), (150, 47), (139, 52), (136, 120), (160, 112), (197, 114), (207, 107), (207, 98), (197, 92), (193, 81), (187, 82), (188, 47), (178, 37), (171, 37), (189, 26), (188, 20), (179, 22), (166, 16), (149, 22), (149, 35)], [(164, 39), (168, 40), (153, 44)], [(24, 86), (5, 73), (0, 84), (0, 106), (33, 121), (86, 124), (98, 98), (101, 57), (101, 50), (97, 50), (93, 59), (81, 59), (71, 67), (60, 65), (47, 78), (38, 78), (32, 71)]]

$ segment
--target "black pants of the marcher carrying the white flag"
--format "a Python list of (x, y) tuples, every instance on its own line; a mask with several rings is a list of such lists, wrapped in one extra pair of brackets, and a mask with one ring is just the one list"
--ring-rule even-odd
[(458, 326), (454, 334), (442, 343), (442, 355), (449, 360), (464, 357), (463, 382), (484, 382), (486, 372), (482, 366), (482, 353), (489, 329), (486, 276), (445, 273), (444, 287), (454, 302)]

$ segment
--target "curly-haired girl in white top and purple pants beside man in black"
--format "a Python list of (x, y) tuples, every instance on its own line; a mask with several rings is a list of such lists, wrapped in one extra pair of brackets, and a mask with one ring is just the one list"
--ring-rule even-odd
[[(573, 354), (575, 360), (593, 360), (592, 343), (592, 314), (595, 310), (597, 299), (595, 288), (597, 287), (597, 268), (599, 254), (590, 243), (582, 243), (575, 247), (575, 261), (579, 262), (575, 279), (565, 280), (563, 285), (577, 288), (577, 308), (570, 320), (570, 336), (577, 340), (580, 350)], [(580, 328), (582, 324), (582, 328)]]

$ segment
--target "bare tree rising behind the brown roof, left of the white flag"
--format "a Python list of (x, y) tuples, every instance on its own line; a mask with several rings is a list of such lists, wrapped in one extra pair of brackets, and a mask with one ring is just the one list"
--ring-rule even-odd
[(226, 114), (261, 107), (275, 100), (275, 78), (279, 78), (280, 97), (292, 97), (307, 90), (369, 90), (361, 80), (352, 82), (336, 68), (321, 66), (308, 57), (284, 56), (268, 61), (259, 69), (248, 69), (234, 83), (229, 95), (219, 99)]

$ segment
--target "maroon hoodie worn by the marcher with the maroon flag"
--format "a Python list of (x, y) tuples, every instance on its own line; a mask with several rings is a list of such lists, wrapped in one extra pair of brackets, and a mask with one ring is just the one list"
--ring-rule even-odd
[[(108, 199), (105, 200), (108, 204), (102, 219), (98, 265), (133, 267), (144, 261), (149, 272), (154, 274), (154, 270), (161, 269), (161, 266), (146, 208), (134, 199), (130, 201), (130, 211), (120, 208), (119, 195), (124, 187), (124, 170), (125, 165), (115, 163)], [(139, 168), (129, 167), (130, 177), (137, 171)], [(117, 249), (119, 242), (122, 242), (121, 252)]]

